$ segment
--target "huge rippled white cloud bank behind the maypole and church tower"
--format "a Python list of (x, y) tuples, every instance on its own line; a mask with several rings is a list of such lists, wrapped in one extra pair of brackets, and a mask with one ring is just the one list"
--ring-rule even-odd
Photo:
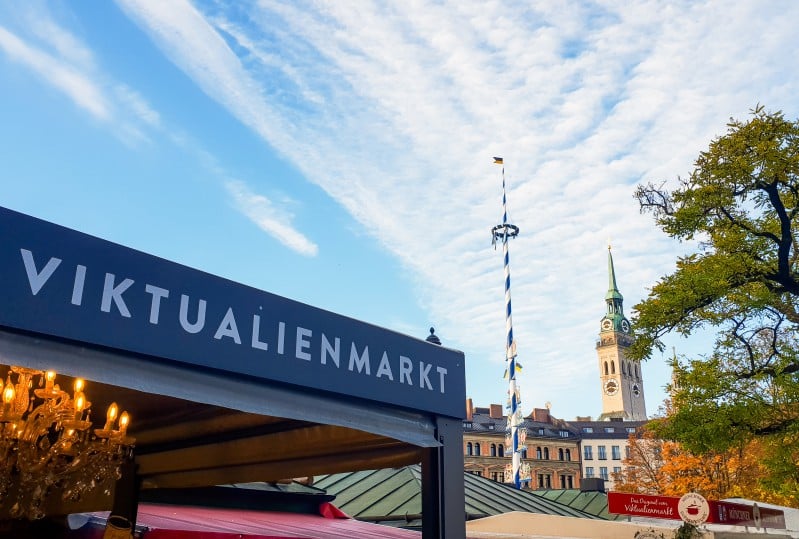
[(492, 156), (505, 158), (522, 230), (511, 247), (515, 334), (526, 406), (540, 406), (593, 388), (607, 237), (628, 313), (690, 248), (639, 215), (634, 185), (689, 172), (727, 118), (757, 102), (799, 112), (793, 2), (262, 0), (235, 17), (216, 3), (119, 3), (206, 94), (374, 231), (449, 344), (497, 373), (480, 377), (496, 402), (505, 322), (488, 232), (501, 217)]

